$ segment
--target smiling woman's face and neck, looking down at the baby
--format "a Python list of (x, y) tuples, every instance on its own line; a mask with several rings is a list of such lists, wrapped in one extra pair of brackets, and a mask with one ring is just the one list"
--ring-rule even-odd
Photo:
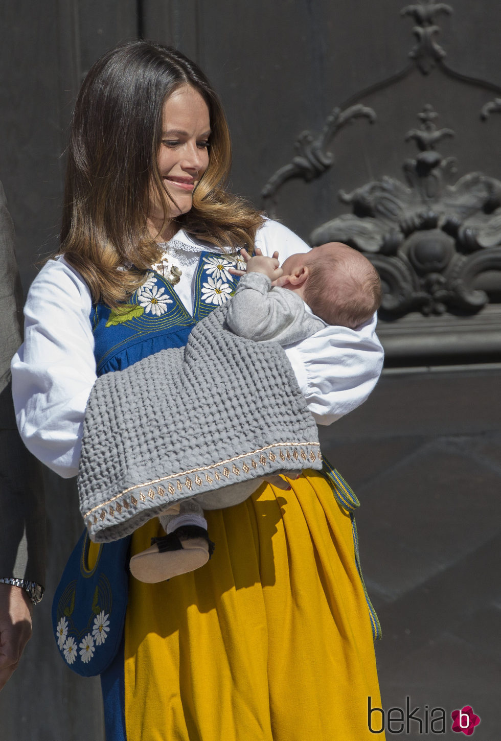
[[(192, 205), (193, 190), (209, 164), (210, 116), (208, 105), (193, 87), (186, 84), (166, 100), (162, 113), (162, 144), (158, 165), (168, 194), (168, 216), (187, 213)], [(158, 232), (164, 213), (158, 196), (150, 194), (148, 221)], [(168, 229), (172, 236), (172, 229)]]

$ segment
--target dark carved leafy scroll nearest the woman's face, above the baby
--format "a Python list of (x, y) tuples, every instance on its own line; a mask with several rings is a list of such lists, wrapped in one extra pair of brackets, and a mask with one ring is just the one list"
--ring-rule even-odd
[(359, 118), (368, 119), (373, 123), (376, 120), (376, 114), (372, 108), (361, 104), (352, 105), (346, 110), (334, 108), (317, 136), (313, 136), (311, 131), (303, 131), (299, 134), (294, 144), (296, 156), (288, 165), (280, 167), (261, 191), (262, 199), (271, 216), (275, 215), (271, 199), (279, 187), (293, 178), (302, 178), (305, 182), (311, 182), (332, 167), (334, 155), (328, 152), (326, 147), (345, 124)]

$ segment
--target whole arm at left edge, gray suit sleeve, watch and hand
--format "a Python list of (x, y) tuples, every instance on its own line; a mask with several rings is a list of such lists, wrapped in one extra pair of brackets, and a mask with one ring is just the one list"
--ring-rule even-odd
[[(21, 282), (14, 229), (0, 184), (0, 689), (31, 635), (30, 582), (45, 579), (45, 519), (39, 464), (21, 442), (10, 392), (10, 359), (21, 344)], [(33, 590), (34, 591), (34, 590)]]

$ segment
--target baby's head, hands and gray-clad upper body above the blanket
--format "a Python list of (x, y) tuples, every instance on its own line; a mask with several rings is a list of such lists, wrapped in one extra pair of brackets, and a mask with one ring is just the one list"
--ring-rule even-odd
[(325, 325), (356, 329), (372, 318), (381, 302), (376, 269), (341, 242), (291, 255), (281, 267), (278, 253), (265, 257), (258, 249), (249, 257), (242, 250), (242, 256), (246, 273), (230, 271), (242, 279), (227, 324), (247, 339), (291, 345)]

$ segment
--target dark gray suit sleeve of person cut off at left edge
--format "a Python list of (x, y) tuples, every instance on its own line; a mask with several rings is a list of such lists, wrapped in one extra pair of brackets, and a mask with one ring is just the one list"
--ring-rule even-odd
[(42, 471), (21, 442), (10, 391), (10, 359), (21, 345), (21, 319), (14, 227), (0, 183), (0, 577), (44, 586)]

